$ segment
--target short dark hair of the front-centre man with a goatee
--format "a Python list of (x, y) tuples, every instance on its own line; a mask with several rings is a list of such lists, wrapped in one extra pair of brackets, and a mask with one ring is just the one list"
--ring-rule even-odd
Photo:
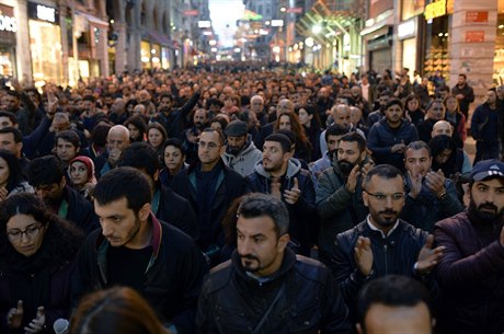
[(277, 237), (282, 237), (289, 230), (289, 211), (285, 204), (266, 194), (253, 193), (244, 196), (238, 207), (238, 216), (243, 218), (256, 218), (267, 216), (275, 223)]

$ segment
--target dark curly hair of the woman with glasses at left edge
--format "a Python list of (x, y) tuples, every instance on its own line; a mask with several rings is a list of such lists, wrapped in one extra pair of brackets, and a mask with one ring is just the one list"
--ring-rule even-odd
[(41, 198), (34, 194), (20, 193), (8, 197), (0, 211), (0, 252), (7, 263), (12, 263), (16, 251), (7, 238), (7, 223), (18, 215), (32, 216), (46, 227), (44, 241), (47, 245), (49, 266), (60, 266), (72, 261), (83, 242), (84, 235), (75, 224), (51, 214)]

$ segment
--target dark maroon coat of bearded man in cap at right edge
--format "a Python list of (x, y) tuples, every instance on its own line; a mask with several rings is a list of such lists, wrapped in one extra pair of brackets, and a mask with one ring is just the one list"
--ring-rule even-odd
[(436, 223), (440, 288), (438, 324), (443, 333), (501, 334), (504, 331), (503, 219), (476, 222), (468, 211)]

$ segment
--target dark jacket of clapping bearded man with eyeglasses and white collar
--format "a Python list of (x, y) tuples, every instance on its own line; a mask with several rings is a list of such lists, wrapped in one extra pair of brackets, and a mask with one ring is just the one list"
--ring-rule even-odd
[[(360, 235), (369, 238), (371, 241), (374, 274), (370, 277), (365, 277), (357, 269), (355, 263), (354, 246)], [(426, 238), (425, 231), (416, 229), (401, 219), (398, 227), (387, 238), (383, 238), (379, 231), (371, 230), (367, 220), (337, 234), (333, 247), (331, 269), (351, 309), (355, 303), (357, 292), (367, 280), (389, 274), (422, 278), (433, 290), (432, 276), (419, 277), (413, 270)]]

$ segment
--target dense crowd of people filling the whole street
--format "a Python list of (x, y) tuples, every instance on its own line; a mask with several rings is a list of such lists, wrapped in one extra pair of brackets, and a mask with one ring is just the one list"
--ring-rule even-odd
[(502, 334), (504, 87), (473, 102), (408, 69), (13, 82), (0, 332)]

